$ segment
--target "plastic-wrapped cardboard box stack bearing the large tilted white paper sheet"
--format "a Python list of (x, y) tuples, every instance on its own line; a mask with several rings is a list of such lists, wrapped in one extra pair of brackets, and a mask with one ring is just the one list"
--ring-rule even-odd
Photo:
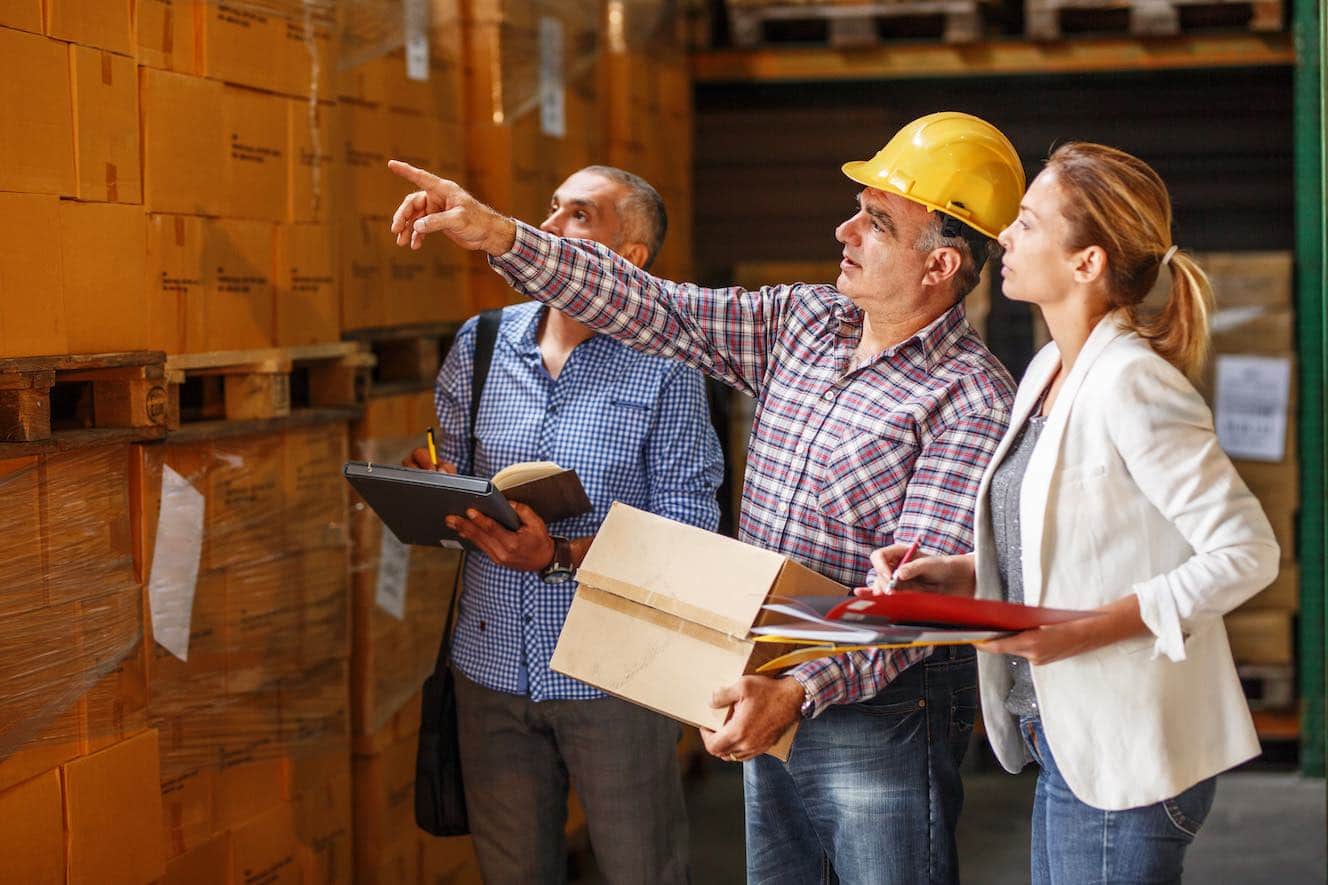
[(347, 439), (137, 446), (169, 882), (352, 881)]

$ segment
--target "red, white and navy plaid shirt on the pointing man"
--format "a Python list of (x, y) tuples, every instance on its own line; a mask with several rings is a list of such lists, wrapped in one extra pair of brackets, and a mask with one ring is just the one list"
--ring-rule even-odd
[[(972, 549), (983, 470), (1015, 383), (955, 306), (850, 371), (863, 314), (833, 286), (701, 288), (610, 248), (517, 223), (490, 264), (519, 292), (757, 399), (738, 538), (847, 586), (895, 537)], [(803, 715), (871, 698), (927, 648), (850, 652), (790, 671)]]

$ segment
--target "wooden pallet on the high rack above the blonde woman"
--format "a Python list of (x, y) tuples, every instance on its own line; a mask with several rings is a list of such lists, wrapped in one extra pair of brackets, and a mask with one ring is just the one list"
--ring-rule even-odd
[(1283, 0), (1024, 0), (1029, 40), (1066, 32), (1175, 36), (1204, 28), (1283, 29)]

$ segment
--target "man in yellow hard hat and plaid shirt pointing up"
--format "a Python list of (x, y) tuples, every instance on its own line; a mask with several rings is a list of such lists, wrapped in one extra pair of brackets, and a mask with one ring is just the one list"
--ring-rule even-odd
[[(651, 276), (588, 241), (483, 206), (454, 182), (392, 163), (420, 190), (398, 245), (434, 231), (483, 250), (519, 292), (637, 349), (683, 360), (758, 400), (738, 537), (847, 586), (871, 550), (972, 549), (979, 480), (1015, 387), (964, 318), (992, 238), (1024, 191), (991, 124), (938, 113), (871, 159), (835, 230), (834, 286), (712, 290)], [(716, 593), (722, 593), (721, 587)], [(948, 882), (959, 761), (977, 706), (971, 647), (853, 652), (717, 687), (732, 707), (706, 748), (744, 761), (748, 880)], [(764, 755), (801, 719), (788, 763)]]

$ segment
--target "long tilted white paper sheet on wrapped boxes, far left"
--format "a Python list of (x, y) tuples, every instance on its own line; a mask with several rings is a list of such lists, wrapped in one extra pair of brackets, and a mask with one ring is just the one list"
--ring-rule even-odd
[(170, 466), (163, 468), (147, 605), (153, 614), (153, 638), (181, 660), (189, 660), (194, 589), (203, 555), (203, 509), (202, 493)]

